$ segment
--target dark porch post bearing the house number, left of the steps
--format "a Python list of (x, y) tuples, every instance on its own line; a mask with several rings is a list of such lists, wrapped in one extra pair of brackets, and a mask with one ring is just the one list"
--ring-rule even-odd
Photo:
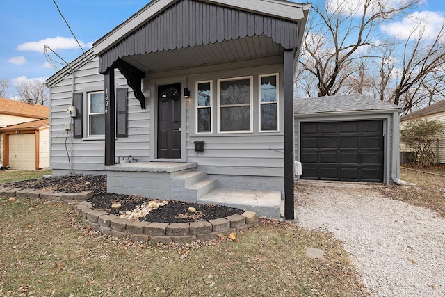
[(105, 76), (105, 162), (106, 166), (115, 163), (115, 91), (114, 67), (109, 67)]

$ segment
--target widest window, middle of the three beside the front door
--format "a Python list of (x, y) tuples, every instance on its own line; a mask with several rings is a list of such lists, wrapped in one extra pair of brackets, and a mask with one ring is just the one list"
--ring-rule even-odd
[(252, 77), (218, 80), (218, 131), (252, 131)]

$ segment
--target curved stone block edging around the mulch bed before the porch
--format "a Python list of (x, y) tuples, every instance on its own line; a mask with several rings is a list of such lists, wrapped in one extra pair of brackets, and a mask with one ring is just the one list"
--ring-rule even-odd
[(154, 241), (165, 244), (210, 241), (217, 239), (218, 236), (227, 236), (248, 229), (257, 220), (255, 212), (245, 211), (243, 214), (234, 214), (226, 218), (191, 223), (140, 222), (94, 210), (86, 201), (77, 204), (77, 213), (83, 223), (88, 224), (92, 230), (99, 230), (102, 234), (120, 239), (129, 238), (133, 241)]

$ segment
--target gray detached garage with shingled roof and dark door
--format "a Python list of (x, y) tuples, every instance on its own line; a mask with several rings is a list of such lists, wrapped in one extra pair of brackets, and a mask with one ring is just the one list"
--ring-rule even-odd
[(400, 182), (401, 108), (364, 95), (296, 99), (300, 179)]

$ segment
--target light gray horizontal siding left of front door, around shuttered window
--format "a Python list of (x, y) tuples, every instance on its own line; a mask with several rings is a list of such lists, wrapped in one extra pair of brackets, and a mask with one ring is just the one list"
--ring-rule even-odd
[[(88, 138), (87, 90), (104, 90), (104, 76), (99, 74), (99, 58), (83, 65), (75, 72), (74, 92), (83, 93), (83, 138), (70, 139), (65, 123), (72, 122), (66, 112), (72, 106), (72, 75), (51, 86), (51, 168), (54, 175), (69, 172), (67, 154), (72, 158), (72, 170), (76, 173), (100, 172), (104, 170), (104, 138)], [(126, 80), (117, 74), (115, 88), (128, 88)], [(138, 161), (149, 159), (149, 106), (141, 110), (138, 100), (129, 92), (128, 137), (116, 140), (116, 157), (132, 155)], [(65, 141), (67, 148), (65, 148)]]

